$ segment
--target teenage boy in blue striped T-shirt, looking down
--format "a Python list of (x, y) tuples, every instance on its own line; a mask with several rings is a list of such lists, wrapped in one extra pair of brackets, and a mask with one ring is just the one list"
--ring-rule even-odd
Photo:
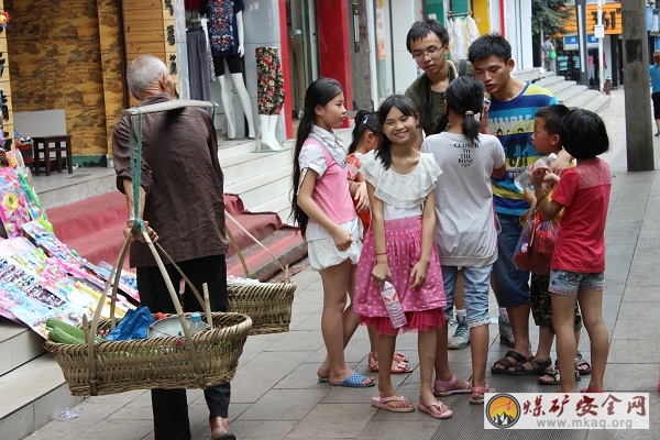
[[(514, 185), (514, 178), (541, 155), (531, 145), (534, 119), (537, 109), (556, 105), (550, 90), (512, 77), (515, 62), (510, 44), (499, 34), (480, 36), (471, 45), (468, 58), (474, 67), (474, 76), (480, 79), (491, 99), (491, 107), (484, 116), (488, 120), (488, 131), (497, 133), (503, 145), (512, 145), (507, 155), (504, 177), (493, 178), (493, 201), (497, 220), (502, 227), (498, 235), (498, 258), (493, 265), (495, 296), (501, 307), (506, 307), (514, 332), (514, 350), (491, 367), (494, 374), (506, 374), (510, 367), (531, 358), (529, 344), (529, 272), (518, 271), (514, 265), (514, 251), (520, 237), (519, 217), (529, 209), (522, 191)], [(570, 155), (559, 154), (556, 168), (566, 167)]]

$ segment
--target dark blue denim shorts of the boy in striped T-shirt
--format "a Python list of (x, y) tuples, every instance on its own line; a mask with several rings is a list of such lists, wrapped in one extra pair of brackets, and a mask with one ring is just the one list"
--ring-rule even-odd
[(493, 264), (495, 297), (499, 307), (517, 307), (529, 304), (529, 272), (514, 264), (514, 253), (522, 226), (519, 216), (498, 213), (502, 232), (497, 235), (497, 261)]

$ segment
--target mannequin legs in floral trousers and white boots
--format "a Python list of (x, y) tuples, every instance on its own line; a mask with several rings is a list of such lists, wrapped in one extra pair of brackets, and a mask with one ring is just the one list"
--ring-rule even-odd
[(277, 120), (284, 105), (284, 77), (277, 47), (257, 47), (256, 109), (261, 124), (262, 150), (284, 150), (277, 142)]

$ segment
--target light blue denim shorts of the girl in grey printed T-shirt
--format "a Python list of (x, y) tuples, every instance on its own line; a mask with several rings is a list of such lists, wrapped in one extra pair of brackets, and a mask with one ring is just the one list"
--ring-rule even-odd
[[(453, 304), (457, 290), (457, 277), (459, 267), (441, 266), (442, 280), (444, 283), (444, 295), (447, 307), (444, 307), (446, 319), (452, 318)], [(484, 267), (463, 267), (463, 285), (465, 290), (465, 311), (468, 327), (488, 324), (488, 292), (491, 292), (492, 265)]]

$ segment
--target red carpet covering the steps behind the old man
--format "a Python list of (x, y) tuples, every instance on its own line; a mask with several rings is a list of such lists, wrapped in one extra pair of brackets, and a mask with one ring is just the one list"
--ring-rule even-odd
[[(224, 204), (227, 211), (260, 240), (283, 266), (307, 255), (307, 245), (299, 230), (283, 224), (276, 213), (245, 211), (243, 202), (235, 195), (224, 195)], [(92, 197), (51, 209), (46, 213), (55, 235), (80, 256), (92, 264), (101, 261), (114, 264), (123, 243), (122, 228), (127, 221), (127, 202), (121, 193)], [(273, 257), (229, 219), (227, 224), (243, 253), (252, 277), (264, 280), (280, 271)], [(227, 256), (228, 274), (245, 276), (231, 243)], [(128, 260), (127, 257), (124, 268), (129, 268)]]

